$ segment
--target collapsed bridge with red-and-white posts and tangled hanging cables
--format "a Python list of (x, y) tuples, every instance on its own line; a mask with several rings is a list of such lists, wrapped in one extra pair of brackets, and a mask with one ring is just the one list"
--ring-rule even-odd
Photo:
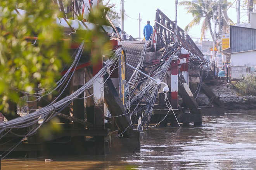
[[(189, 88), (189, 68), (203, 75), (209, 73), (209, 62), (180, 27), (176, 32), (175, 23), (158, 9), (152, 41), (119, 42), (109, 36), (108, 50), (114, 53), (104, 54), (96, 62), (91, 62), (91, 57), (97, 49), (83, 51), (93, 42), (73, 42), (74, 60), (62, 72), (58, 95), (47, 103), (43, 95), (50, 91), (27, 94), (29, 113), (0, 123), (0, 151), (3, 155), (23, 151), (30, 157), (104, 155), (113, 150), (139, 150), (137, 129), (145, 130), (151, 123), (200, 125), (201, 108)], [(202, 78), (193, 83), (207, 89)], [(167, 93), (165, 84), (170, 89)], [(216, 97), (213, 100), (221, 106)], [(55, 117), (58, 121), (51, 122)], [(51, 123), (61, 130), (43, 139), (38, 129)]]

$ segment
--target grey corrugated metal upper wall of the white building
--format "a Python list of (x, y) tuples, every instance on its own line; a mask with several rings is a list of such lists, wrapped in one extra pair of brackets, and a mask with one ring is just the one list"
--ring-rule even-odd
[(256, 29), (230, 26), (231, 53), (256, 49)]

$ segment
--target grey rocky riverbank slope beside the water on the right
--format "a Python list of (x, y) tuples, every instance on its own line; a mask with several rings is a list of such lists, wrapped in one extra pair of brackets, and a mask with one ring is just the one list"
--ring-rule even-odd
[[(234, 109), (256, 109), (256, 96), (243, 96), (237, 93), (235, 88), (228, 83), (216, 83), (215, 85), (210, 85), (209, 88), (213, 93), (220, 97), (221, 102), (225, 105), (226, 110)], [(206, 95), (199, 93), (197, 97), (199, 105), (210, 104), (210, 101)]]

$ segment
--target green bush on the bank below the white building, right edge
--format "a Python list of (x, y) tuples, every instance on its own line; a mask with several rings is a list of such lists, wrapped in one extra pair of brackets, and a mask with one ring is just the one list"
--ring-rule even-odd
[(244, 77), (235, 84), (241, 95), (256, 95), (256, 78), (254, 74)]

